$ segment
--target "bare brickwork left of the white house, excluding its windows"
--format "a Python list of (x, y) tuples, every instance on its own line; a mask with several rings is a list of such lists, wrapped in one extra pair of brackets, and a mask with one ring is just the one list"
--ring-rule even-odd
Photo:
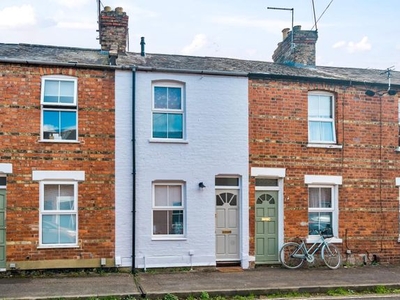
[[(79, 143), (40, 142), (43, 75), (78, 78)], [(7, 177), (7, 261), (114, 257), (114, 72), (0, 65), (0, 161)], [(39, 183), (33, 170), (80, 170), (79, 247), (38, 249)]]

